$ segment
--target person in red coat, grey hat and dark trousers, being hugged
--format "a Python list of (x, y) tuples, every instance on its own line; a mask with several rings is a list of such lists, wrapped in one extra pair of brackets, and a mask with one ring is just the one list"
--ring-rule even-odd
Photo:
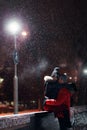
[(67, 78), (66, 75), (61, 75), (59, 77), (59, 83), (62, 84), (59, 92), (57, 93), (56, 99), (47, 99), (44, 110), (54, 112), (55, 116), (59, 120), (60, 130), (67, 130), (71, 128), (70, 122), (70, 100), (72, 92), (74, 92), (73, 86), (72, 89), (67, 88)]

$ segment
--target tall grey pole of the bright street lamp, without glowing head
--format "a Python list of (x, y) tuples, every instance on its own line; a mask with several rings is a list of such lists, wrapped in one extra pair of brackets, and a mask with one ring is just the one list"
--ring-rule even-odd
[(14, 36), (14, 114), (18, 113), (18, 52), (17, 52), (17, 36)]

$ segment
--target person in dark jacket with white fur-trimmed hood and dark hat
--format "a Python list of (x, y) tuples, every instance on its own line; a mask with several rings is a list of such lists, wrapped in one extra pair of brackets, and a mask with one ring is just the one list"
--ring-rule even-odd
[(55, 67), (51, 76), (45, 76), (44, 77), (44, 87), (45, 87), (45, 91), (44, 91), (44, 97), (45, 99), (49, 98), (49, 99), (56, 99), (57, 97), (57, 93), (59, 90), (59, 67)]

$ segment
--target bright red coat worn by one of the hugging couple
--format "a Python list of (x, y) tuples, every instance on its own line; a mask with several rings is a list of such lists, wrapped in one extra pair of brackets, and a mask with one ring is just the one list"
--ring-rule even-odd
[(71, 93), (67, 88), (61, 88), (57, 99), (47, 99), (44, 110), (54, 112), (56, 117), (64, 117), (64, 111), (70, 113)]

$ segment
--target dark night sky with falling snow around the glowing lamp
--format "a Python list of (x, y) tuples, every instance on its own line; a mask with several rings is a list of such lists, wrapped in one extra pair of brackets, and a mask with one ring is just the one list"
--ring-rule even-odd
[(20, 18), (28, 32), (27, 38), (17, 39), (22, 82), (50, 75), (55, 66), (73, 70), (76, 76), (86, 66), (85, 0), (0, 0), (0, 70), (14, 67), (13, 38), (4, 29), (11, 17)]

